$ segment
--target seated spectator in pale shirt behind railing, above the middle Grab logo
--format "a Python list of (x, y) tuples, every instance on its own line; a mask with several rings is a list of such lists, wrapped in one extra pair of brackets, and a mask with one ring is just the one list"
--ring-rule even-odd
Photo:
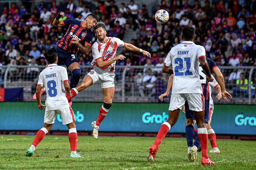
[(148, 69), (147, 74), (143, 76), (142, 85), (139, 86), (139, 94), (141, 97), (154, 96), (156, 92), (155, 88), (156, 76), (152, 74), (152, 71)]

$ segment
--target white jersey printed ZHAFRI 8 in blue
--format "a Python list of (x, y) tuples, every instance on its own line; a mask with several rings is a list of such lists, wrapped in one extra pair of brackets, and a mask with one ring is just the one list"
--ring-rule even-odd
[(38, 86), (45, 87), (46, 111), (69, 107), (65, 95), (64, 82), (69, 81), (65, 67), (49, 64), (39, 75)]

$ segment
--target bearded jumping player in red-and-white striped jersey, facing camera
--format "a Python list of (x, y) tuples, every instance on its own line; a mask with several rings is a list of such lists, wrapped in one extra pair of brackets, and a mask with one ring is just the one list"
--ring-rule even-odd
[(100, 108), (100, 113), (96, 121), (92, 122), (93, 132), (92, 135), (98, 138), (98, 129), (102, 120), (108, 114), (112, 106), (112, 99), (115, 92), (115, 61), (124, 60), (125, 56), (116, 56), (117, 47), (123, 47), (130, 51), (141, 52), (143, 55), (151, 57), (150, 53), (135, 47), (132, 44), (124, 43), (119, 38), (106, 37), (106, 25), (103, 22), (98, 22), (94, 30), (96, 32), (97, 41), (92, 45), (93, 61), (91, 65), (92, 70), (84, 77), (82, 83), (77, 87), (71, 89), (71, 96), (66, 95), (67, 99), (75, 97), (79, 91), (87, 88), (90, 85), (100, 81), (102, 92), (104, 95), (104, 103)]

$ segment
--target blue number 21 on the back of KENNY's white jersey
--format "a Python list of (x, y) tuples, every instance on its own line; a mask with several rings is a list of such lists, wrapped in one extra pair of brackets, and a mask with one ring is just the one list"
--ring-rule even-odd
[(185, 57), (184, 61), (186, 62), (187, 70), (186, 72), (180, 72), (180, 70), (183, 69), (183, 59), (182, 58), (175, 58), (174, 62), (175, 64), (179, 64), (174, 68), (175, 76), (184, 76), (185, 75), (193, 75), (192, 72), (189, 71), (190, 69), (190, 57)]

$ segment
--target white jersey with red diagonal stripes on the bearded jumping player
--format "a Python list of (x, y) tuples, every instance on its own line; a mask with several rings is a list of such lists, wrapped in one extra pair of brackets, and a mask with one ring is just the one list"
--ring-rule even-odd
[[(97, 60), (101, 59), (103, 61), (110, 60), (116, 56), (116, 49), (117, 47), (123, 47), (125, 43), (116, 37), (107, 37), (108, 42), (105, 44), (102, 44), (99, 39), (92, 45), (92, 56), (93, 60), (91, 65), (95, 66), (97, 65)], [(102, 68), (103, 70), (114, 72), (115, 71), (115, 61), (110, 64), (109, 66), (106, 66)]]

